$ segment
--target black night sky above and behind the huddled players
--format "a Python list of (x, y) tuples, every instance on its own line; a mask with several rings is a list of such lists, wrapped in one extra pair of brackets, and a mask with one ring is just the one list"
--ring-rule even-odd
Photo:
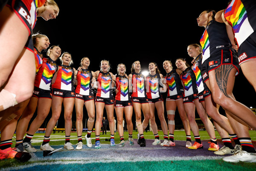
[[(143, 70), (148, 70), (149, 62), (156, 62), (165, 75), (162, 66), (164, 60), (171, 60), (175, 64), (175, 59), (182, 57), (191, 63), (186, 49), (191, 43), (200, 44), (204, 32), (196, 21), (200, 13), (206, 9), (224, 9), (228, 0), (55, 2), (60, 8), (58, 17), (49, 21), (38, 17), (33, 33), (47, 35), (51, 45), (59, 45), (62, 52), (69, 52), (74, 61), (73, 67), (79, 67), (80, 60), (87, 56), (90, 70), (99, 70), (100, 61), (106, 59), (111, 64), (110, 72), (113, 74), (116, 74), (117, 64), (121, 62), (126, 65), (127, 74), (130, 74), (131, 64), (139, 60)], [(241, 103), (255, 107), (255, 91), (241, 70), (236, 77), (233, 93)], [(165, 99), (166, 94), (163, 97)], [(165, 116), (167, 118), (166, 113)], [(50, 117), (51, 112), (41, 127), (46, 126)], [(84, 108), (84, 122), (86, 118)], [(76, 121), (75, 107), (73, 121)], [(156, 121), (159, 123), (157, 116)], [(175, 115), (175, 123), (182, 125), (178, 114)], [(58, 128), (64, 128), (63, 111)]]

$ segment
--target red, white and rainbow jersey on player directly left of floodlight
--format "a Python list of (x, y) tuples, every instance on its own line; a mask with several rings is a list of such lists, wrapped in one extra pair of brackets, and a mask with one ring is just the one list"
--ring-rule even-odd
[(132, 86), (135, 90), (133, 90), (131, 97), (147, 97), (144, 87), (145, 78), (142, 73), (132, 73)]

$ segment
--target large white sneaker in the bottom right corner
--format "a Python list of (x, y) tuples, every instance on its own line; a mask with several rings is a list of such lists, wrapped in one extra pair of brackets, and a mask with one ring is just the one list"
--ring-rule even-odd
[(256, 163), (256, 153), (248, 153), (247, 151), (240, 150), (235, 153), (233, 156), (224, 157), (225, 162), (238, 163), (238, 162), (247, 162), (247, 163)]

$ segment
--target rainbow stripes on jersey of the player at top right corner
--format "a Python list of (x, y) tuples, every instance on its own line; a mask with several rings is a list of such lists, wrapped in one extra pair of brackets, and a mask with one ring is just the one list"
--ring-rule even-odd
[(225, 18), (233, 25), (233, 30), (238, 33), (244, 20), (247, 19), (247, 11), (241, 0), (233, 0), (225, 11)]

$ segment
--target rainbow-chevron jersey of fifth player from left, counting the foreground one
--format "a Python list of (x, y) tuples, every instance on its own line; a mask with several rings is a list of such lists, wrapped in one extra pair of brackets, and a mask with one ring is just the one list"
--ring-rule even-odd
[(82, 69), (82, 71), (78, 71), (76, 74), (76, 80), (77, 80), (76, 93), (81, 95), (93, 95), (92, 86), (91, 86), (92, 79), (93, 79), (92, 71), (87, 69)]

